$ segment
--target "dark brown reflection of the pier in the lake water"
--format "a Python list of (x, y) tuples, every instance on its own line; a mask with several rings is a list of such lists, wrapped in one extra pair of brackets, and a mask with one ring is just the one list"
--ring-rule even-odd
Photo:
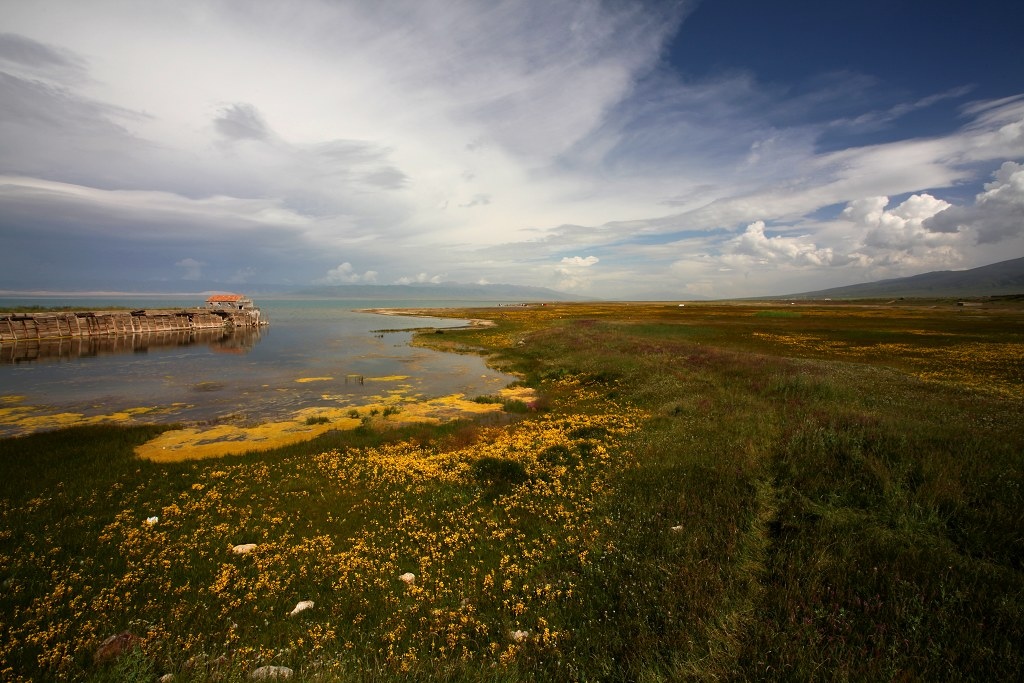
[(263, 329), (216, 328), (175, 330), (106, 337), (26, 339), (0, 343), (0, 364), (35, 360), (70, 360), (113, 353), (145, 353), (151, 349), (207, 344), (221, 353), (248, 353), (259, 342)]

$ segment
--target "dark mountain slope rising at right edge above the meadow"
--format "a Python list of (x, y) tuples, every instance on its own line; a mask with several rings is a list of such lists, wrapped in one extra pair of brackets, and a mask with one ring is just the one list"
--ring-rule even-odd
[(769, 299), (877, 299), (891, 297), (980, 297), (1024, 294), (1024, 258), (970, 270), (936, 270), (909, 278), (834, 287)]

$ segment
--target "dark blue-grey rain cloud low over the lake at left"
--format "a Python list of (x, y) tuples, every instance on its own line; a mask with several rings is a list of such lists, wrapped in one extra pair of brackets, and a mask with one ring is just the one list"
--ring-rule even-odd
[(310, 263), (329, 266), (310, 260), (298, 230), (254, 220), (253, 207), (247, 216), (232, 214), (230, 203), (173, 196), (124, 203), (131, 195), (0, 180), (0, 289), (52, 289), (76, 279), (101, 288), (179, 281), (182, 263), (193, 261), (216, 264), (202, 272), (222, 276), (259, 265), (263, 282), (285, 282)]

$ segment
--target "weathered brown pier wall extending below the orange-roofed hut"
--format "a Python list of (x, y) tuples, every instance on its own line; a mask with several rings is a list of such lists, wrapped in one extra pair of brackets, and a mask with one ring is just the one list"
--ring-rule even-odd
[(258, 308), (0, 313), (0, 343), (253, 328), (260, 325), (265, 323), (260, 319)]

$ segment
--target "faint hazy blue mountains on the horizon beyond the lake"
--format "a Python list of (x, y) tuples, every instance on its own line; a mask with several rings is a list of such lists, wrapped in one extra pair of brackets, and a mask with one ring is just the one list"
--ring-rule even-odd
[(580, 297), (545, 287), (522, 285), (331, 285), (311, 287), (295, 294), (339, 299), (404, 301), (573, 301)]

